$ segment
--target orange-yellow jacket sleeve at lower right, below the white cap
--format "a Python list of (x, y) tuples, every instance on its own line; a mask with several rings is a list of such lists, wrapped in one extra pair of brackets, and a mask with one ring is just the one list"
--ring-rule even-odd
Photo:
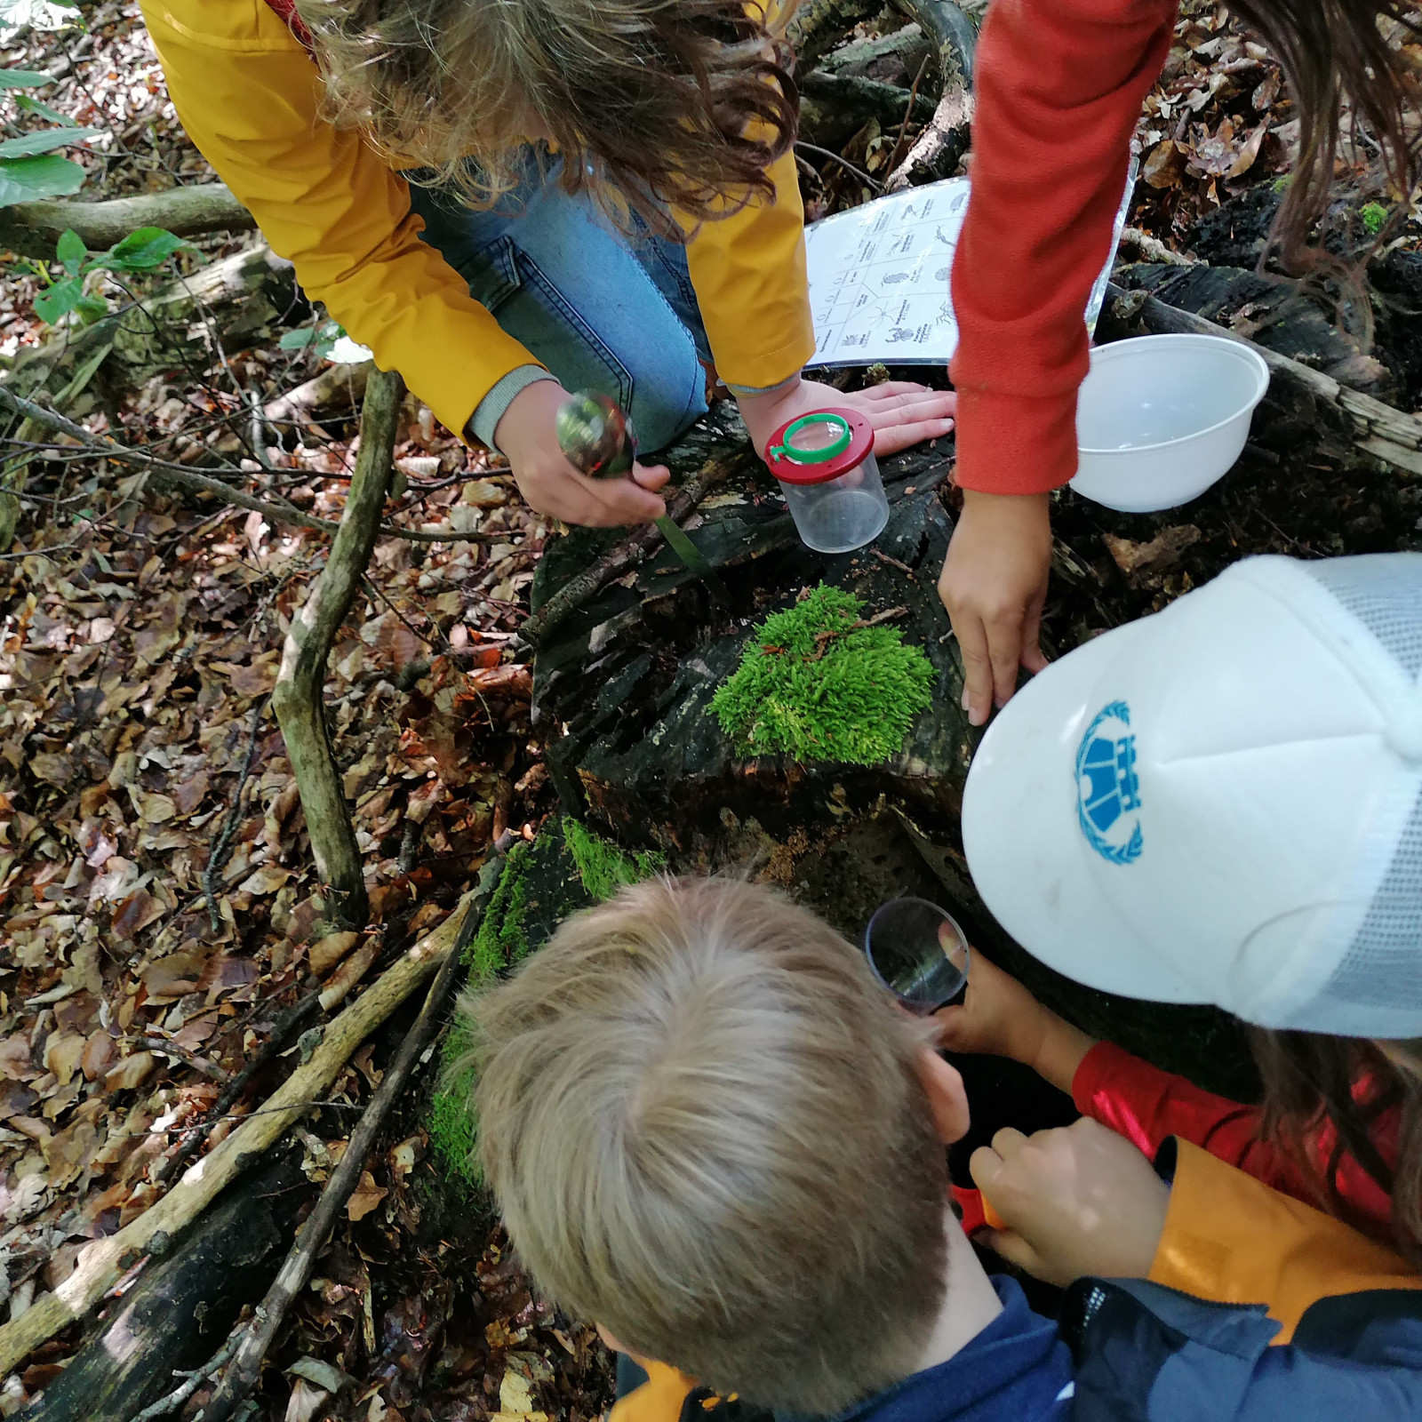
[(1321, 1210), (1176, 1138), (1175, 1185), (1149, 1278), (1221, 1304), (1267, 1304), (1288, 1342), (1310, 1304), (1422, 1288), (1411, 1264)]

